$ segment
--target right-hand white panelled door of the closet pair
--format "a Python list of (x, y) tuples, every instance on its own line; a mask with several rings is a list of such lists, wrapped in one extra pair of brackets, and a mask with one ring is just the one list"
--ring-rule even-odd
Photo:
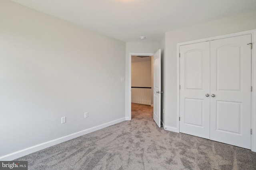
[(210, 41), (210, 139), (251, 149), (251, 35)]

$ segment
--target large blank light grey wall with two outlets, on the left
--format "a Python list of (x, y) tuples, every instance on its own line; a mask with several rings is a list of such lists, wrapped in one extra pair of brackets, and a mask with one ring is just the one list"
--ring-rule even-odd
[(1, 0), (0, 160), (123, 121), (125, 49), (122, 41)]

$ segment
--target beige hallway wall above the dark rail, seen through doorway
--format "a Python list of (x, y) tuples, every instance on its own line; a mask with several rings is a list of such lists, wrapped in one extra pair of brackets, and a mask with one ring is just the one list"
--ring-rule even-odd
[(132, 87), (151, 87), (151, 61), (131, 64)]

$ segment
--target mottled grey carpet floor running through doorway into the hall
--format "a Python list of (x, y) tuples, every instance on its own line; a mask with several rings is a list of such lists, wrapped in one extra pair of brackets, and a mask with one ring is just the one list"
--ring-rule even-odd
[(255, 170), (256, 152), (158, 128), (153, 108), (132, 120), (29, 154), (29, 170)]

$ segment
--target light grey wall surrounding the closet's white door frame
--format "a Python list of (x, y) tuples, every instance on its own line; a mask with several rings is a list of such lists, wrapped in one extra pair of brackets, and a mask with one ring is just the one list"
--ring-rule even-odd
[(236, 33), (256, 28), (256, 10), (165, 34), (164, 51), (164, 124), (177, 131), (177, 51), (176, 44), (196, 39)]

